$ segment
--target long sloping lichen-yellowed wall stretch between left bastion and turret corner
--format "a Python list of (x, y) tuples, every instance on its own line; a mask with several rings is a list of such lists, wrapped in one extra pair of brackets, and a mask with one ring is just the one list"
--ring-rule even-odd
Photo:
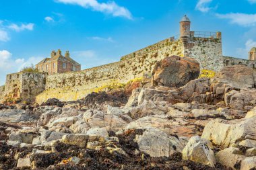
[(49, 75), (46, 77), (46, 91), (36, 97), (38, 103), (55, 97), (63, 101), (81, 99), (97, 87), (113, 81), (127, 81), (151, 73), (154, 64), (170, 55), (183, 55), (183, 46), (179, 40), (168, 38), (137, 52), (121, 58), (121, 61), (86, 69), (84, 71)]

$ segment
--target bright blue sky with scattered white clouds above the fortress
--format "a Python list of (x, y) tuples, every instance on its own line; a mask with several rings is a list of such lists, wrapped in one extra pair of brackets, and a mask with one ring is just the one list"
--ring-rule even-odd
[(247, 58), (256, 46), (256, 0), (2, 0), (0, 85), (5, 74), (69, 50), (82, 69), (191, 30), (222, 32), (223, 53)]

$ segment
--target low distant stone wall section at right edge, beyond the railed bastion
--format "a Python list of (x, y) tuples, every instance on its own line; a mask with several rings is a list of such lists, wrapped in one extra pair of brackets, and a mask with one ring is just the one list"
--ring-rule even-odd
[(223, 56), (223, 62), (225, 66), (246, 65), (247, 67), (256, 69), (256, 60), (245, 60), (241, 58), (234, 58), (231, 56)]

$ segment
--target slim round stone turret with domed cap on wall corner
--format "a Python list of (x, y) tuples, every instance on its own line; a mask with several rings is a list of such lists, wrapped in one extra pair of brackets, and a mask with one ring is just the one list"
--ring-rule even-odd
[(187, 17), (187, 15), (185, 15), (180, 22), (180, 38), (184, 46), (187, 44), (187, 42), (189, 42), (190, 24), (191, 22), (189, 18)]

